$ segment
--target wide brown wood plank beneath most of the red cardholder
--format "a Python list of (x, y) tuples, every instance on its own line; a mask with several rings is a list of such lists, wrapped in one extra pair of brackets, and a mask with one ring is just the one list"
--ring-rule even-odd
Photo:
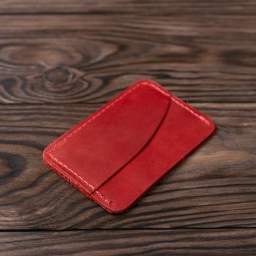
[(112, 216), (42, 162), (99, 105), (1, 105), (0, 228), (255, 227), (256, 104), (197, 103), (217, 134), (126, 214)]

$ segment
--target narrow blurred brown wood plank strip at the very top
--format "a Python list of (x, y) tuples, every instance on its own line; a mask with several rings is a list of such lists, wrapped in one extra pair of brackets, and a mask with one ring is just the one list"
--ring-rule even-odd
[(255, 14), (255, 1), (242, 0), (1, 0), (0, 13), (138, 13), (140, 15)]

